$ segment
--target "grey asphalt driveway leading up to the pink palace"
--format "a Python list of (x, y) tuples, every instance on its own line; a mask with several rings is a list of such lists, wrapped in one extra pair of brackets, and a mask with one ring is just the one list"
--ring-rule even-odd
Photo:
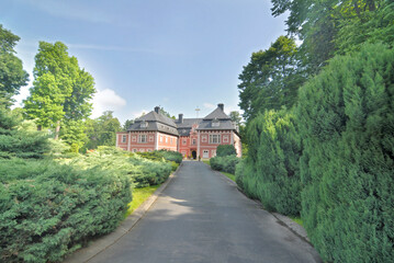
[(135, 227), (89, 262), (322, 262), (227, 179), (184, 161)]

